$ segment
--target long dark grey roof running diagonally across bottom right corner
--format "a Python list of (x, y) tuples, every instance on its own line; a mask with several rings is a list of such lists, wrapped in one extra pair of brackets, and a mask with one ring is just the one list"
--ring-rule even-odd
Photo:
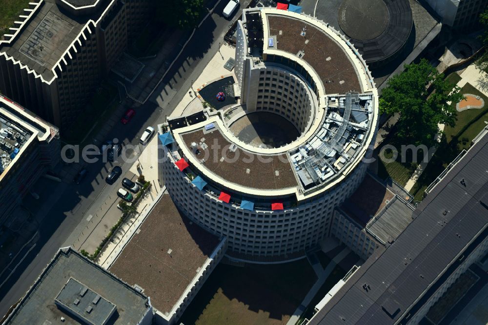
[(485, 136), (417, 206), (397, 240), (367, 259), (309, 324), (393, 324), (415, 314), (488, 236), (487, 161)]

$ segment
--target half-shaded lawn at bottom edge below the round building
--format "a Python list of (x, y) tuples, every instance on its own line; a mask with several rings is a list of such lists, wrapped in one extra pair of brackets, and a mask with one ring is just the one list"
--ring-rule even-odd
[(306, 259), (219, 264), (183, 313), (183, 324), (286, 324), (317, 277)]

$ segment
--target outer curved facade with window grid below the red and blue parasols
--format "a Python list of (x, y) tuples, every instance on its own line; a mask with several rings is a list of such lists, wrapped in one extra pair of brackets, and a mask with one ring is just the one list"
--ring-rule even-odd
[(172, 159), (165, 159), (162, 168), (164, 183), (176, 206), (210, 233), (226, 236), (227, 253), (270, 257), (304, 251), (328, 235), (334, 208), (363, 181), (367, 165), (362, 163), (333, 190), (283, 211), (248, 211), (224, 203), (190, 183)]

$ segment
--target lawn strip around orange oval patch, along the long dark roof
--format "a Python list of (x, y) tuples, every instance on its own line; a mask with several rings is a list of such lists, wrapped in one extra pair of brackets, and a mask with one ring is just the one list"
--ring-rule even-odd
[[(456, 125), (444, 128), (444, 137), (439, 148), (417, 183), (410, 190), (410, 193), (414, 194), (415, 200), (421, 201), (423, 199), (427, 186), (441, 174), (463, 149), (469, 149), (473, 138), (485, 127), (485, 121), (488, 121), (488, 98), (469, 83), (462, 88), (461, 93), (482, 97), (485, 101), (485, 107), (457, 112)], [(455, 107), (456, 104), (452, 103), (452, 105)]]

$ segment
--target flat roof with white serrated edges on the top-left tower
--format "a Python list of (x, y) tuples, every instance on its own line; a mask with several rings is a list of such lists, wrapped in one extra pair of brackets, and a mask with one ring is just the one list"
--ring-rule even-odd
[[(90, 37), (94, 24), (99, 23), (102, 15), (108, 12), (105, 9), (116, 1), (40, 1), (31, 3), (31, 11), (25, 13), (29, 18), (19, 18), (21, 23), (13, 24), (15, 30), (11, 30), (11, 35), (14, 36), (0, 41), (0, 53), (13, 59), (14, 64), (20, 64), (22, 69), (27, 68), (29, 73), (33, 70), (43, 82), (50, 83), (59, 69), (64, 69), (65, 64), (69, 64), (66, 62), (76, 56), (72, 47), (78, 49), (79, 42)], [(90, 8), (81, 12), (83, 6)]]

